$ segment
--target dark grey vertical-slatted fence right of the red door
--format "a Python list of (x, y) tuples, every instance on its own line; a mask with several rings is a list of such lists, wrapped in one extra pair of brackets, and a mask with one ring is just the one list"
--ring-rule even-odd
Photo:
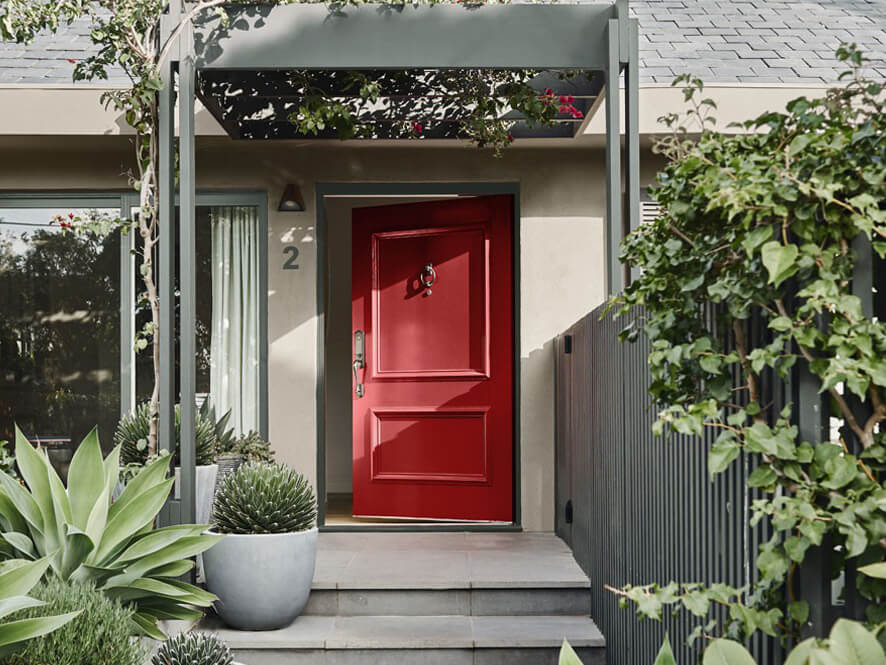
[[(591, 578), (609, 665), (652, 665), (665, 631), (678, 663), (689, 665), (697, 656), (683, 639), (697, 620), (681, 613), (663, 625), (638, 622), (603, 587), (753, 581), (766, 534), (746, 526), (752, 469), (739, 459), (711, 482), (714, 436), (652, 436), (648, 344), (620, 343), (628, 320), (600, 314), (557, 340), (557, 533)], [(772, 662), (771, 641), (752, 646), (761, 663)]]

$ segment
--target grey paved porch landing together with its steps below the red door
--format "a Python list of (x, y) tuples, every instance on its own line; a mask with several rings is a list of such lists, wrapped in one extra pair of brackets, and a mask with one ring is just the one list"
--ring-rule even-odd
[(550, 533), (321, 533), (305, 613), (217, 633), (246, 665), (556, 663), (566, 638), (601, 663), (590, 583)]

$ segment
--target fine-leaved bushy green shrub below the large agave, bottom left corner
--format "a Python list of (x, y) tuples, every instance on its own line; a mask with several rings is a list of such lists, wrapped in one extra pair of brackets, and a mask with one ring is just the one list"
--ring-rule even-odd
[[(147, 652), (132, 639), (134, 610), (108, 598), (91, 584), (50, 576), (34, 592), (45, 606), (20, 613), (24, 619), (44, 610), (76, 618), (53, 633), (38, 637), (10, 656), (4, 665), (142, 665)], [(79, 616), (77, 616), (79, 615)]]

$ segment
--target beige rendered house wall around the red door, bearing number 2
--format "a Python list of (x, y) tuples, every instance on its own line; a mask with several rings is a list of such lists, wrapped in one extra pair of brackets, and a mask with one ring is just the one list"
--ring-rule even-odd
[[(0, 189), (126, 186), (122, 137), (0, 138)], [(647, 158), (644, 167), (652, 165)], [(255, 189), (269, 202), (270, 438), (279, 457), (316, 477), (316, 211), (314, 184), (332, 181), (506, 181), (520, 186), (521, 455), (523, 524), (554, 526), (553, 338), (604, 299), (603, 151), (517, 149), (501, 159), (473, 148), (373, 148), (198, 141), (198, 187)], [(277, 212), (287, 183), (303, 213)], [(299, 269), (282, 269), (283, 247)]]

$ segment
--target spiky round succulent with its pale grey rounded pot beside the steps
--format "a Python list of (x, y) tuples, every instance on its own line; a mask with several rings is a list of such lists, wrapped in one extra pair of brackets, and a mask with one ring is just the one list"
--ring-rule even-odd
[(221, 482), (211, 531), (226, 536), (203, 564), (225, 623), (273, 630), (295, 620), (314, 579), (316, 519), (314, 489), (284, 464), (248, 462)]

